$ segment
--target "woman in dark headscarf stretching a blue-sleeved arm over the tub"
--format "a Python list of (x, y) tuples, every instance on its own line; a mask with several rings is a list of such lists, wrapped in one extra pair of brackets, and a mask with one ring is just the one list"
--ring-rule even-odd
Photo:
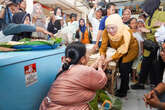
[(53, 34), (47, 30), (41, 27), (32, 26), (30, 23), (30, 14), (25, 12), (16, 13), (13, 16), (12, 23), (3, 30), (3, 33), (4, 35), (14, 35), (12, 41), (19, 41), (23, 38), (31, 38), (32, 32), (42, 32), (44, 34), (53, 36)]

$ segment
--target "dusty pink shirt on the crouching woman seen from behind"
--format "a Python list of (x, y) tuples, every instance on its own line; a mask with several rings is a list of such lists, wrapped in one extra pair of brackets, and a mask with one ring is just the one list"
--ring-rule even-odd
[(95, 97), (96, 90), (105, 86), (106, 81), (102, 70), (74, 65), (56, 79), (40, 110), (89, 110), (88, 102)]

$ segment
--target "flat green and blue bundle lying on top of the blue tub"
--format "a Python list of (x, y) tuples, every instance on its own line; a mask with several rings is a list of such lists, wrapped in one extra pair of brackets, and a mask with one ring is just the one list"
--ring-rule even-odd
[(51, 38), (50, 40), (32, 40), (29, 38), (24, 38), (18, 42), (10, 41), (10, 42), (0, 43), (0, 47), (13, 48), (16, 49), (16, 51), (45, 50), (45, 49), (54, 49), (58, 47), (61, 42), (62, 42), (61, 38)]

